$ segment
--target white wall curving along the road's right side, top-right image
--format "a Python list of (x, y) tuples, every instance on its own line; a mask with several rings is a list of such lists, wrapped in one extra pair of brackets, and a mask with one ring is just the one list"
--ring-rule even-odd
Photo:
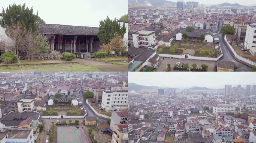
[(234, 58), (235, 58), (237, 61), (239, 61), (239, 62), (241, 62), (241, 63), (243, 63), (243, 64), (246, 64), (247, 66), (250, 66), (250, 67), (256, 66), (256, 63), (255, 63), (254, 61), (251, 61), (251, 60), (248, 60), (248, 59), (246, 59), (246, 58), (244, 58), (244, 57), (241, 57), (240, 55), (238, 55), (238, 54), (235, 52), (234, 48), (228, 43), (228, 40), (227, 40), (227, 38), (226, 38), (226, 35), (224, 36), (224, 42), (226, 43), (226, 45), (228, 46), (228, 48), (229, 48), (229, 50), (231, 51), (232, 55), (234, 56)]

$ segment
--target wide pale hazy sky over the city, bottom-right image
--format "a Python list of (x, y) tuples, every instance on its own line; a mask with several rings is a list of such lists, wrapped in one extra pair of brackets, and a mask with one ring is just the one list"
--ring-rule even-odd
[(224, 88), (224, 85), (256, 84), (255, 72), (129, 72), (128, 82), (160, 87)]

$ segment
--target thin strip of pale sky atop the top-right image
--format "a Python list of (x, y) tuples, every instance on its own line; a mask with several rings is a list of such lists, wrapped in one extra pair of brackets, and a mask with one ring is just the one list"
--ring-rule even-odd
[[(168, 1), (174, 1), (176, 0), (168, 0)], [(241, 5), (250, 5), (250, 4), (256, 4), (253, 0), (185, 0), (186, 1), (198, 1), (199, 4), (220, 4), (220, 3), (238, 3)]]

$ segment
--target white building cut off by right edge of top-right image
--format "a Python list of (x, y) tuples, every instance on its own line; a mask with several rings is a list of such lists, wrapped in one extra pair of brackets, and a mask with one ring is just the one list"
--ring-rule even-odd
[(256, 55), (256, 23), (247, 25), (244, 47), (250, 50), (252, 55)]

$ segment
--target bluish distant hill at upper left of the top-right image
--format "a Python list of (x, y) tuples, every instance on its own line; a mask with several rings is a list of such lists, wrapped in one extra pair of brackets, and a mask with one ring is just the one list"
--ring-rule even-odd
[[(167, 0), (137, 0), (138, 3), (148, 3), (152, 6), (164, 6), (165, 3), (176, 6), (176, 2), (167, 1)], [(128, 3), (136, 3), (136, 0), (128, 0)]]

